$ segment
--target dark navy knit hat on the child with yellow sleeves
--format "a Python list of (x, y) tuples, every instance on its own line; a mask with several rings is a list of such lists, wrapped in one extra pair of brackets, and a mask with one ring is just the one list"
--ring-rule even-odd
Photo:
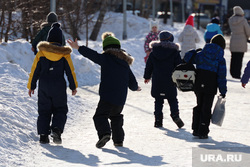
[(54, 23), (51, 26), (51, 29), (49, 30), (48, 36), (47, 36), (47, 41), (48, 42), (55, 42), (60, 45), (62, 45), (62, 30), (60, 28), (59, 23)]

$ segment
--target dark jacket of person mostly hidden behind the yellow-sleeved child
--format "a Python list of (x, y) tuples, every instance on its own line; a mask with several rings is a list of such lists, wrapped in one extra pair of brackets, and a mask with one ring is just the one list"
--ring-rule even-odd
[[(45, 23), (41, 25), (42, 29), (37, 33), (35, 39), (32, 41), (32, 47), (35, 49), (35, 54), (37, 53), (37, 44), (40, 41), (47, 41), (47, 36), (51, 28), (51, 24)], [(62, 35), (62, 45), (65, 46), (65, 37)]]

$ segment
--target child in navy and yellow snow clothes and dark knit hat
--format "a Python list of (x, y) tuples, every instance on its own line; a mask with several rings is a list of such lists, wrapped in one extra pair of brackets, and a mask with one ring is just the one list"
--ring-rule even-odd
[(31, 97), (39, 79), (37, 130), (42, 144), (49, 143), (48, 135), (51, 130), (53, 142), (62, 143), (61, 134), (68, 112), (64, 73), (67, 75), (72, 95), (77, 92), (78, 84), (70, 57), (72, 50), (68, 46), (62, 46), (62, 36), (60, 24), (54, 23), (48, 33), (48, 42), (41, 41), (38, 44), (39, 51), (34, 59), (27, 85)]

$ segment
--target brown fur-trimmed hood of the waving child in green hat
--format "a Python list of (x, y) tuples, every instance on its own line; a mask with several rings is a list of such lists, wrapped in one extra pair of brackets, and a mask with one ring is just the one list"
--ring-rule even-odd
[(103, 53), (114, 55), (115, 57), (126, 61), (129, 65), (134, 62), (134, 58), (123, 49), (108, 48)]

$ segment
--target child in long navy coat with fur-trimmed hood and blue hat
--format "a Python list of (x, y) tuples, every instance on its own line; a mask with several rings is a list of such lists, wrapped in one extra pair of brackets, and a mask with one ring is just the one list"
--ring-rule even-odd
[(155, 127), (162, 127), (164, 99), (168, 100), (171, 117), (179, 128), (184, 123), (179, 117), (177, 90), (172, 81), (174, 68), (181, 63), (179, 46), (174, 36), (168, 31), (161, 31), (160, 41), (150, 43), (152, 52), (149, 55), (144, 71), (144, 82), (147, 84), (152, 77), (151, 95), (155, 98)]

